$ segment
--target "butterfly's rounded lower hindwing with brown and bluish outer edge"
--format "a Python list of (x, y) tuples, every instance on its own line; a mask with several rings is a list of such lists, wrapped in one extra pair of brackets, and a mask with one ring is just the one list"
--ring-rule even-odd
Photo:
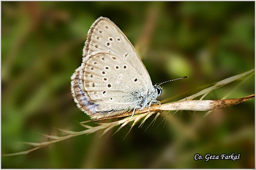
[(79, 108), (93, 118), (131, 111), (148, 93), (143, 77), (134, 71), (116, 54), (99, 52), (88, 56), (73, 76), (73, 96)]

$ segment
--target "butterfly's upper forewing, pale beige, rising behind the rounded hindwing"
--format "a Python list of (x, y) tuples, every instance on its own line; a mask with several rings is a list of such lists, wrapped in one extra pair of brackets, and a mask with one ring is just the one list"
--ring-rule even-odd
[(125, 34), (111, 20), (105, 17), (99, 17), (90, 27), (83, 49), (83, 57), (99, 51), (114, 53), (125, 59), (134, 67), (137, 74), (144, 78), (144, 85), (151, 88), (152, 82), (148, 71), (134, 46)]

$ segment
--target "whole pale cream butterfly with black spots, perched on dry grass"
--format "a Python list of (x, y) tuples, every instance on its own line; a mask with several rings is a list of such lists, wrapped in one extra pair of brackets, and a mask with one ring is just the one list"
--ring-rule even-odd
[(92, 118), (109, 117), (158, 103), (162, 88), (153, 86), (131, 42), (108, 18), (91, 26), (83, 62), (71, 77), (77, 106)]

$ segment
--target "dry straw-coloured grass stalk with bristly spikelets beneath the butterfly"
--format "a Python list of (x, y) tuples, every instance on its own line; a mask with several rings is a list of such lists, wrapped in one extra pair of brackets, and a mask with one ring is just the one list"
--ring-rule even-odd
[[(102, 133), (102, 135), (104, 135), (105, 133), (107, 133), (112, 128), (120, 125), (119, 128), (116, 130), (116, 132), (118, 132), (122, 127), (127, 125), (129, 122), (133, 122), (133, 124), (131, 126), (131, 128), (132, 128), (132, 127), (134, 127), (134, 125), (136, 125), (138, 122), (140, 122), (140, 120), (143, 120), (141, 122), (140, 126), (139, 126), (139, 127), (142, 127), (144, 122), (150, 116), (157, 113), (154, 120), (153, 120), (153, 122), (154, 122), (155, 119), (157, 119), (157, 117), (160, 115), (160, 113), (162, 111), (176, 111), (176, 110), (212, 111), (212, 110), (216, 110), (216, 109), (220, 109), (220, 108), (226, 108), (226, 107), (231, 106), (231, 105), (237, 105), (237, 104), (245, 102), (249, 99), (253, 99), (255, 97), (255, 95), (253, 94), (253, 95), (250, 95), (250, 96), (241, 97), (241, 98), (237, 98), (237, 99), (220, 99), (220, 100), (192, 100), (192, 99), (194, 99), (195, 97), (204, 95), (204, 96), (201, 97), (201, 99), (203, 99), (207, 94), (209, 94), (210, 91), (213, 91), (217, 88), (220, 88), (224, 85), (227, 85), (228, 83), (233, 82), (237, 79), (240, 79), (240, 78), (242, 78), (242, 77), (244, 77), (248, 74), (254, 74), (254, 69), (252, 69), (250, 71), (247, 71), (243, 74), (238, 74), (236, 76), (229, 77), (227, 79), (221, 80), (220, 82), (217, 82), (215, 85), (213, 85), (209, 88), (206, 88), (202, 91), (199, 91), (198, 93), (193, 94), (192, 96), (188, 96), (184, 99), (181, 99), (177, 102), (170, 102), (170, 103), (166, 103), (166, 104), (163, 104), (163, 105), (155, 105), (155, 106), (151, 106), (150, 109), (145, 108), (142, 111), (136, 111), (135, 115), (133, 117), (125, 117), (121, 120), (114, 121), (114, 122), (109, 122), (109, 123), (98, 123), (99, 125), (95, 126), (95, 127), (89, 126), (89, 125), (84, 125), (84, 123), (91, 122), (91, 121), (103, 120), (103, 119), (93, 119), (93, 120), (86, 121), (86, 122), (80, 122), (79, 125), (81, 125), (82, 127), (87, 128), (86, 130), (82, 130), (82, 131), (70, 131), (70, 130), (57, 129), (61, 132), (67, 133), (67, 135), (65, 135), (65, 136), (51, 136), (51, 135), (44, 135), (43, 134), (48, 139), (52, 139), (52, 140), (47, 141), (47, 142), (40, 142), (40, 143), (20, 142), (20, 143), (23, 143), (23, 144), (32, 145), (32, 146), (34, 146), (34, 148), (32, 148), (30, 150), (23, 151), (23, 152), (3, 154), (3, 156), (15, 156), (15, 155), (27, 154), (27, 153), (30, 153), (34, 150), (37, 150), (37, 149), (41, 148), (41, 147), (47, 146), (49, 144), (60, 142), (60, 141), (63, 141), (65, 139), (72, 138), (74, 136), (94, 133), (94, 132), (99, 131), (99, 130), (104, 130), (103, 133)], [(132, 112), (127, 112), (127, 113), (122, 113), (118, 116), (108, 117), (108, 118), (104, 118), (104, 119), (112, 119), (112, 118), (117, 118), (117, 117), (131, 116), (131, 114), (132, 114)], [(131, 128), (130, 128), (130, 130), (131, 130)], [(130, 130), (129, 130), (129, 132), (130, 132)]]

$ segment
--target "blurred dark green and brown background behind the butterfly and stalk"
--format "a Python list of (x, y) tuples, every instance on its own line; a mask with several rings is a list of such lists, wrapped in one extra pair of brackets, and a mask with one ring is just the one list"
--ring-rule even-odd
[[(137, 49), (160, 100), (176, 101), (255, 68), (254, 2), (1, 2), (1, 151), (43, 142), (54, 127), (84, 130), (70, 92), (90, 25), (110, 18)], [(211, 92), (221, 99), (240, 81)], [(254, 94), (254, 75), (228, 98)], [(200, 98), (198, 98), (200, 99)], [(2, 168), (255, 168), (254, 99), (206, 112), (162, 113), (154, 126), (78, 136), (28, 155), (4, 157)], [(95, 124), (89, 124), (95, 125)], [(158, 126), (159, 125), (159, 126)], [(158, 126), (158, 127), (157, 127)], [(144, 132), (145, 131), (145, 132)], [(200, 153), (241, 153), (240, 160), (195, 161)]]

